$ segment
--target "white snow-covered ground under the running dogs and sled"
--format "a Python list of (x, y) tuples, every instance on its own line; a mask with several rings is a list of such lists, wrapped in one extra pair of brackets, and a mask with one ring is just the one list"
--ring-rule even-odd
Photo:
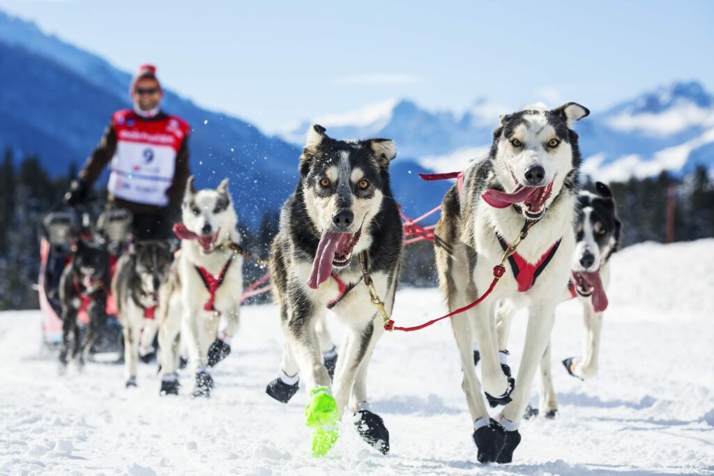
[[(13, 474), (714, 474), (714, 239), (645, 243), (613, 258), (600, 375), (554, 364), (558, 418), (524, 422), (511, 465), (480, 465), (448, 323), (386, 335), (368, 380), (391, 433), (380, 455), (348, 418), (326, 458), (311, 457), (306, 397), (265, 394), (281, 352), (276, 308), (246, 307), (210, 400), (159, 397), (155, 365), (139, 388), (89, 364), (60, 377), (39, 353), (39, 313), (0, 313), (0, 473)], [(443, 312), (438, 290), (398, 293), (398, 323)], [(580, 309), (558, 308), (553, 358), (580, 354)], [(513, 326), (513, 361), (525, 320)], [(333, 329), (336, 334), (338, 328)], [(513, 365), (517, 368), (517, 365)]]

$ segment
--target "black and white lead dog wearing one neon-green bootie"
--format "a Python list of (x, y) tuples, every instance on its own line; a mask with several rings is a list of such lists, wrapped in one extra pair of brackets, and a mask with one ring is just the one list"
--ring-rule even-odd
[[(383, 324), (361, 266), (391, 312), (402, 249), (388, 171), (395, 156), (393, 141), (339, 141), (322, 126), (311, 126), (296, 191), (281, 211), (270, 270), (285, 335), (282, 373), (299, 372), (308, 391), (306, 424), (313, 428), (315, 455), (337, 440), (348, 403), (361, 437), (381, 452), (389, 449), (388, 431), (371, 412), (366, 392)], [(346, 325), (333, 382), (316, 333), (316, 322), (328, 309)]]

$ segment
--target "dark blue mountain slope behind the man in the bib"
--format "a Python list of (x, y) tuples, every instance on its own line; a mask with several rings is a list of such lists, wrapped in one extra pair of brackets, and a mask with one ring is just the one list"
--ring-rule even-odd
[[(66, 173), (72, 163), (81, 165), (111, 113), (129, 106), (130, 79), (99, 56), (0, 11), (0, 149), (12, 148), (18, 160), (37, 154), (54, 175)], [(307, 127), (293, 145), (266, 136), (251, 123), (206, 111), (169, 90), (164, 91), (164, 108), (193, 128), (189, 148), (198, 186), (230, 177), (243, 223), (257, 226), (263, 213), (276, 211), (294, 190)], [(409, 162), (393, 170), (394, 194), (415, 214), (438, 203), (447, 186), (415, 180), (416, 172), (423, 170)]]

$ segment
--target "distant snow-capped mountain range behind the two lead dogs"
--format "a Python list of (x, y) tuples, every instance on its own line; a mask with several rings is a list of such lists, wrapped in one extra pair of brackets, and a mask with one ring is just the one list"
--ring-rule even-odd
[[(427, 111), (402, 100), (314, 121), (346, 136), (393, 138), (399, 157), (451, 171), (488, 151), (499, 114), (517, 107), (481, 99), (456, 113)], [(652, 176), (663, 170), (689, 173), (698, 164), (714, 168), (714, 98), (695, 81), (670, 83), (594, 112), (575, 128), (586, 158), (584, 171), (600, 180)], [(296, 129), (286, 128), (281, 136), (295, 141)]]

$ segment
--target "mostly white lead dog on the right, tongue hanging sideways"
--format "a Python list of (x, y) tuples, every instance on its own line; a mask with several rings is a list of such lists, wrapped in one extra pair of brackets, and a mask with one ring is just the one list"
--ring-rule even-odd
[[(435, 253), (450, 311), (486, 293), (496, 274), (494, 265), (512, 243), (522, 240), (493, 292), (480, 305), (451, 318), (480, 462), (511, 462), (521, 441), (518, 425), (575, 253), (580, 151), (570, 123), (588, 113), (567, 103), (552, 111), (533, 106), (501, 116), (488, 157), (471, 163), (461, 193), (453, 186), (442, 203)], [(501, 363), (507, 350), (498, 348), (495, 312), (502, 300), (515, 309), (528, 308), (518, 385), (508, 365)], [(498, 420), (489, 417), (483, 400), (473, 365), (473, 338), (481, 353), (488, 402), (492, 407), (506, 405)]]

